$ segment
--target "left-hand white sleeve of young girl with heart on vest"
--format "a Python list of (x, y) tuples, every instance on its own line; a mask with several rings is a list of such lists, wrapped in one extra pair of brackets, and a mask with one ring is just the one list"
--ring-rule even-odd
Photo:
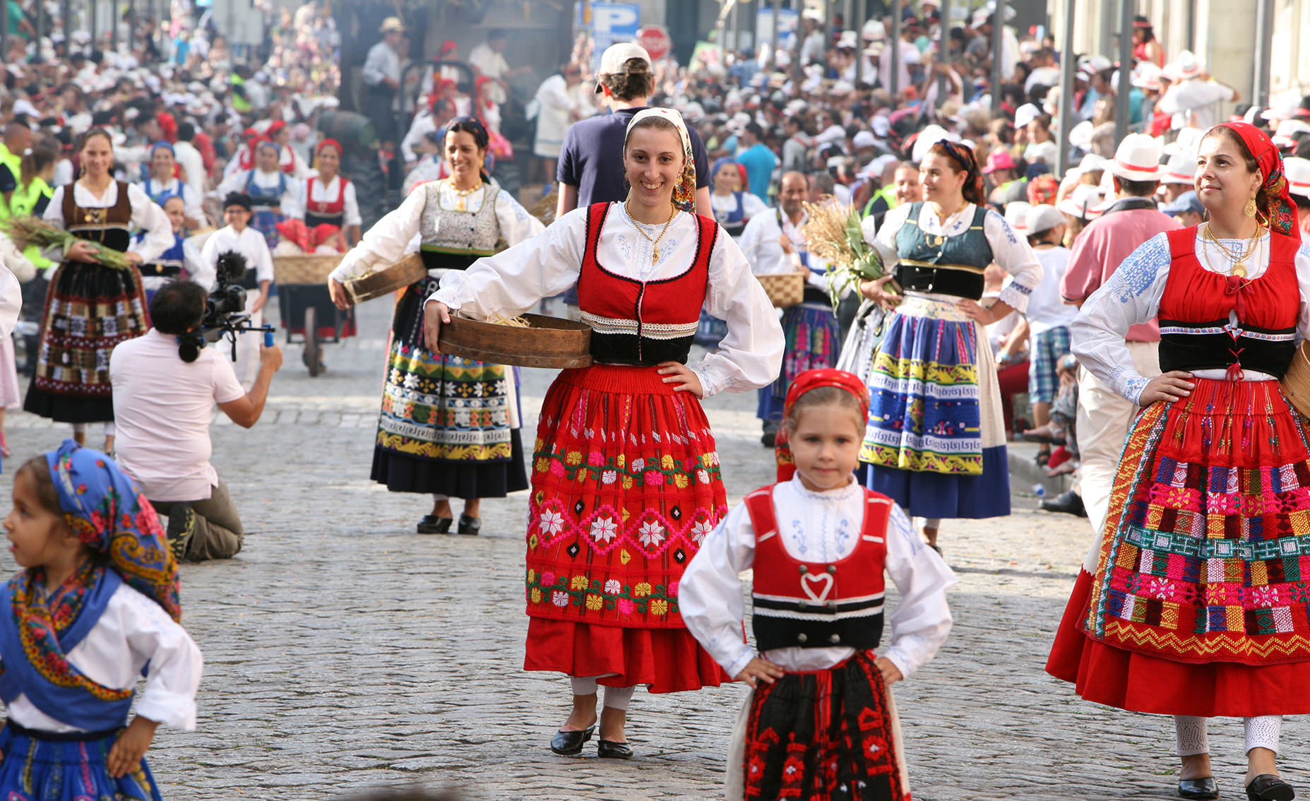
[(730, 676), (755, 658), (741, 628), (745, 616), (739, 574), (755, 564), (755, 527), (739, 503), (710, 532), (677, 585), (686, 631)]

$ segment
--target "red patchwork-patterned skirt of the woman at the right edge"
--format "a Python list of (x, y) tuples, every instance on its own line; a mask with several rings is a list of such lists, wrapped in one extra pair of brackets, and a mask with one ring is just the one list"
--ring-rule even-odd
[(1120, 465), (1047, 671), (1134, 712), (1310, 712), (1310, 464), (1277, 383), (1197, 379)]

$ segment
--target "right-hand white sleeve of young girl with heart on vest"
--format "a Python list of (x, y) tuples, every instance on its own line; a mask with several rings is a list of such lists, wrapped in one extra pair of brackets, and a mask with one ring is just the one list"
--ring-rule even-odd
[(959, 579), (942, 557), (920, 540), (899, 505), (892, 505), (886, 537), (887, 576), (901, 598), (887, 617), (892, 641), (882, 655), (908, 679), (946, 641), (946, 635), (951, 631), (946, 590)]

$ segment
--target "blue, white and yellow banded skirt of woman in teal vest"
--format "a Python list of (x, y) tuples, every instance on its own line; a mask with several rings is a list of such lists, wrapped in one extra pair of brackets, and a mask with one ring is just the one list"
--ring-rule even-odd
[(981, 325), (954, 303), (907, 298), (866, 383), (866, 486), (914, 517), (1010, 514), (1001, 395)]

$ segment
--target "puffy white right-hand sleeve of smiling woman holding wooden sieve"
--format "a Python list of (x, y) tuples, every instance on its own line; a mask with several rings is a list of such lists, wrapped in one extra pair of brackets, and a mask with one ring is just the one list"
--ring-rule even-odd
[(741, 249), (722, 225), (710, 253), (705, 311), (728, 324), (719, 349), (689, 364), (701, 379), (705, 397), (758, 389), (778, 378), (783, 351), (778, 313), (751, 273)]

